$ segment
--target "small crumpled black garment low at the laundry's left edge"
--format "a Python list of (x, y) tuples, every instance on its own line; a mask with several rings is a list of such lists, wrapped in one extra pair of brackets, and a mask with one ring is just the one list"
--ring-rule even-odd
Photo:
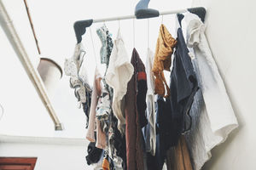
[(90, 142), (90, 144), (88, 145), (88, 156), (85, 156), (88, 165), (96, 163), (101, 159), (103, 150), (96, 148), (95, 144), (95, 142)]

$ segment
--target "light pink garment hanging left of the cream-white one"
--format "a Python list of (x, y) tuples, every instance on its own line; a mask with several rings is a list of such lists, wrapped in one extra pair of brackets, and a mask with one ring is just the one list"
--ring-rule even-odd
[[(96, 142), (97, 148), (104, 149), (106, 146), (106, 134), (102, 131), (100, 121), (96, 119), (96, 105), (98, 103), (98, 97), (100, 97), (102, 91), (101, 80), (102, 77), (96, 68), (93, 82), (93, 91), (91, 94), (89, 126), (86, 134), (86, 139), (88, 139), (90, 142)], [(95, 129), (97, 139), (95, 139)]]

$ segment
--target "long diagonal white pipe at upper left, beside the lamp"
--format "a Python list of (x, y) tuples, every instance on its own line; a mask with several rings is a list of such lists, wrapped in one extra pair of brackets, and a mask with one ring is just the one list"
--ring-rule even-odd
[(59, 121), (58, 117), (55, 114), (53, 106), (50, 103), (48, 94), (44, 87), (44, 82), (42, 81), (38, 71), (36, 71), (32, 65), (31, 60), (26, 53), (26, 49), (23, 47), (22, 42), (20, 41), (20, 37), (15, 30), (15, 26), (13, 25), (12, 20), (9, 17), (6, 8), (3, 5), (2, 0), (0, 0), (0, 25), (3, 28), (6, 36), (9, 39), (9, 42), (12, 44), (12, 47), (15, 50), (15, 53), (18, 55), (20, 62), (24, 66), (26, 70), (26, 74), (30, 77), (33, 85), (35, 86), (36, 90), (38, 91), (38, 95), (40, 99), (43, 101), (44, 106), (46, 107), (47, 111), (49, 112), (49, 116), (51, 117), (52, 121), (55, 123), (55, 130), (63, 130), (61, 122)]

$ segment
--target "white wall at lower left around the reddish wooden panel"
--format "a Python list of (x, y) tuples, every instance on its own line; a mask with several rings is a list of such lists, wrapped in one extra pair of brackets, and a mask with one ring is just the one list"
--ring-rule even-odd
[(1, 136), (0, 156), (38, 157), (35, 170), (90, 170), (93, 167), (85, 160), (86, 145), (79, 139)]

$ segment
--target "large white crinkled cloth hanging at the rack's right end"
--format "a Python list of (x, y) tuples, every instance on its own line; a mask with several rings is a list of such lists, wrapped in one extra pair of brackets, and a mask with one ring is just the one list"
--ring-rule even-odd
[(226, 93), (218, 67), (212, 58), (205, 26), (195, 14), (187, 13), (182, 21), (190, 55), (195, 58), (195, 72), (201, 91), (195, 96), (191, 116), (198, 123), (186, 135), (193, 157), (193, 167), (200, 170), (211, 157), (211, 150), (223, 143), (229, 133), (238, 127), (236, 116)]

